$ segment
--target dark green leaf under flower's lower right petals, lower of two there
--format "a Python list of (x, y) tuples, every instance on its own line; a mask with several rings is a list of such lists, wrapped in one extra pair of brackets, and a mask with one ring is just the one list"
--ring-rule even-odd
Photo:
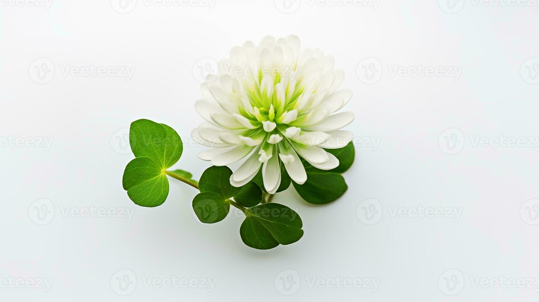
[(336, 200), (348, 189), (341, 174), (316, 168), (306, 169), (307, 181), (304, 184), (294, 182), (294, 188), (307, 202), (324, 204)]

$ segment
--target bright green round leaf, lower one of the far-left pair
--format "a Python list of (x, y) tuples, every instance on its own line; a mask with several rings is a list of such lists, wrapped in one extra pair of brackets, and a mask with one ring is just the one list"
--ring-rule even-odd
[(130, 161), (123, 172), (122, 184), (129, 198), (142, 207), (161, 205), (169, 193), (167, 176), (150, 157)]

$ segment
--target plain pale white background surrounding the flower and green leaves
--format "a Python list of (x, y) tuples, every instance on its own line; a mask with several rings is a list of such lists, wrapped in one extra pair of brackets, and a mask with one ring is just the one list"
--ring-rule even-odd
[[(496, 282), (539, 278), (539, 11), (536, 2), (464, 1), (217, 0), (209, 9), (138, 0), (124, 3), (126, 12), (116, 0), (52, 0), (48, 9), (0, 0), (0, 300), (537, 301), (536, 281)], [(174, 180), (160, 207), (134, 205), (121, 186), (133, 158), (129, 123), (148, 118), (176, 129), (186, 141), (175, 168), (198, 178), (209, 164), (187, 140), (202, 122), (193, 106), (202, 98), (200, 68), (245, 40), (289, 34), (334, 56), (342, 87), (354, 92), (347, 129), (364, 140), (344, 173), (344, 196), (323, 206), (293, 188), (275, 196), (299, 212), (305, 235), (267, 251), (241, 242), (236, 212), (199, 223), (196, 191)], [(135, 69), (130, 79), (64, 73), (92, 65)], [(393, 73), (419, 65), (462, 69), (458, 78)], [(40, 80), (36, 67), (53, 67), (53, 77)], [(365, 83), (365, 68), (376, 83)], [(502, 136), (533, 146), (500, 146)], [(396, 207), (412, 215), (392, 214)], [(462, 212), (412, 217), (418, 207)], [(88, 208), (134, 213), (65, 213)], [(125, 272), (131, 287), (120, 288), (115, 278)], [(157, 288), (144, 283), (149, 276), (216, 285)], [(313, 277), (379, 286), (329, 288), (309, 284)], [(53, 281), (45, 291), (10, 278)], [(482, 279), (486, 286), (475, 283)]]

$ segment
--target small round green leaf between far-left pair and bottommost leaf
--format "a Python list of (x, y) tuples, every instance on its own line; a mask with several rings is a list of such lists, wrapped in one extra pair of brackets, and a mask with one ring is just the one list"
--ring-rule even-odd
[(216, 223), (229, 214), (230, 204), (219, 193), (204, 192), (193, 199), (193, 210), (201, 222)]

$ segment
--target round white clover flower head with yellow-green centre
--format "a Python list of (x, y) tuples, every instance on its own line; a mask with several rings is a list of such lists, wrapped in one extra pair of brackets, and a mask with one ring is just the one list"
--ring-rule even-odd
[[(281, 163), (293, 181), (305, 183), (300, 157), (329, 170), (338, 159), (322, 148), (342, 148), (353, 133), (340, 131), (354, 120), (351, 112), (333, 114), (352, 97), (339, 90), (342, 70), (319, 49), (300, 50), (297, 36), (275, 40), (267, 36), (258, 46), (247, 41), (219, 61), (218, 75), (202, 84), (205, 99), (195, 108), (206, 122), (191, 133), (201, 145), (213, 147), (198, 155), (214, 166), (226, 166), (247, 155), (230, 182), (240, 187), (262, 167), (270, 194), (281, 182)], [(299, 156), (298, 156), (299, 155)]]

